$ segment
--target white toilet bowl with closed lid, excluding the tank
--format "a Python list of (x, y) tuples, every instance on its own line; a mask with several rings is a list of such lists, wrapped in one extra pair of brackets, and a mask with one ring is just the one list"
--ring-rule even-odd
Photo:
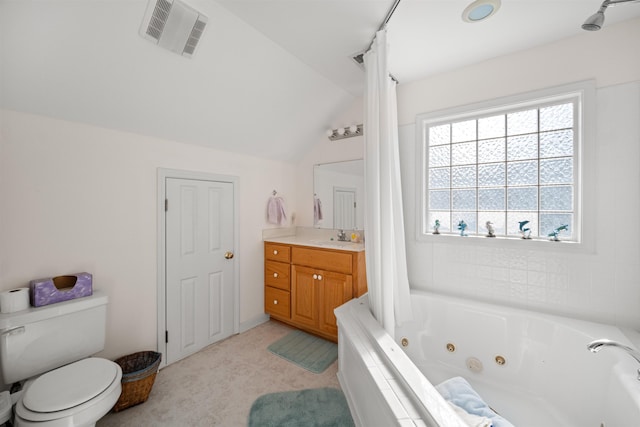
[(115, 405), (122, 369), (99, 357), (54, 369), (25, 383), (16, 426), (93, 426)]

